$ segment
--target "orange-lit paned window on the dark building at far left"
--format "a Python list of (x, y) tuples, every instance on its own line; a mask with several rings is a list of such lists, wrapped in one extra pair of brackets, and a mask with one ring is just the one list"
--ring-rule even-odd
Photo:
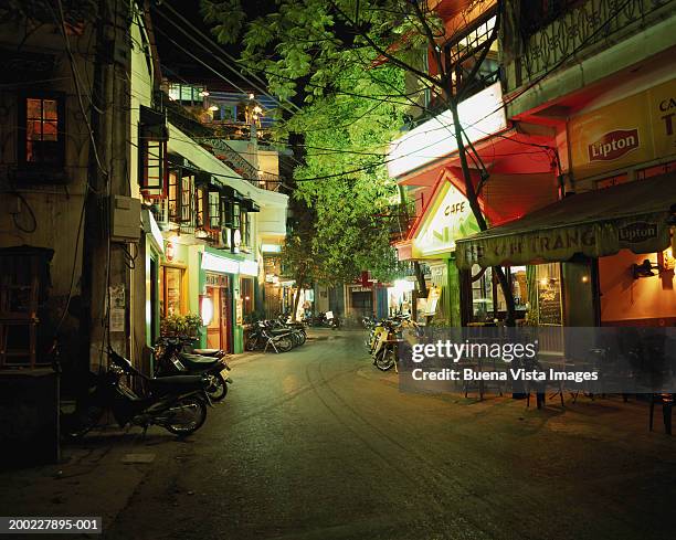
[(21, 96), (19, 160), (23, 165), (63, 167), (64, 98)]

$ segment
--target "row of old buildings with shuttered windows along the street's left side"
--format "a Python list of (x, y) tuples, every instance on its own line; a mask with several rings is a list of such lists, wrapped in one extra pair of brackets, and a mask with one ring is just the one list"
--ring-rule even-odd
[(110, 345), (150, 372), (148, 346), (189, 315), (202, 317), (203, 346), (240, 352), (264, 301), (261, 247), (286, 233), (286, 195), (179, 127), (141, 3), (105, 8), (3, 23), (0, 248), (49, 261), (35, 272), (36, 338), (3, 339), (4, 364), (35, 348), (51, 362), (56, 335), (80, 369)]

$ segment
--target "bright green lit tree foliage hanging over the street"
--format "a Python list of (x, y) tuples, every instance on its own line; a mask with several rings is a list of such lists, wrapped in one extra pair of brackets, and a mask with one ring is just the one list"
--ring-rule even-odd
[(305, 247), (321, 262), (318, 280), (351, 280), (366, 269), (387, 280), (395, 271), (390, 226), (399, 192), (385, 155), (414, 102), (405, 71), (382, 62), (379, 50), (395, 49), (412, 64), (421, 57), (424, 38), (410, 9), (401, 0), (281, 0), (244, 22), (239, 0), (203, 2), (219, 40), (242, 40), (243, 65), (263, 72), (272, 94), (303, 104), (277, 124), (277, 136), (304, 136), (294, 195), (316, 216)]

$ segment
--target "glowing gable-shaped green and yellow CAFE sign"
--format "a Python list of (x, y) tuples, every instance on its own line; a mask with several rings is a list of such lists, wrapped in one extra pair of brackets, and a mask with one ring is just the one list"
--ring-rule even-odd
[(455, 241), (479, 231), (469, 201), (445, 182), (411, 246), (412, 258), (446, 258), (455, 250)]

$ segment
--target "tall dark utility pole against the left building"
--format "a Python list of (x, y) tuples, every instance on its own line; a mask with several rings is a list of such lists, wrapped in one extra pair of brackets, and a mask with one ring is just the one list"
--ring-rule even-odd
[[(81, 373), (105, 362), (112, 346), (127, 352), (126, 332), (109, 327), (110, 287), (113, 300), (125, 308), (128, 327), (128, 283), (126, 253), (110, 243), (109, 199), (129, 195), (129, 72), (128, 1), (101, 0), (96, 20), (92, 103), (92, 137), (87, 167), (85, 223), (80, 314)], [(140, 220), (140, 216), (139, 216)]]

